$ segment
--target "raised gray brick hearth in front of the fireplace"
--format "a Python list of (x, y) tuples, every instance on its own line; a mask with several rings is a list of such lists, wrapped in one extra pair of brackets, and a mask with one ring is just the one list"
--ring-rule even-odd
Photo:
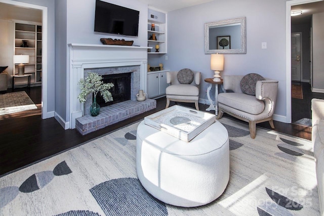
[(155, 108), (156, 101), (152, 99), (146, 99), (141, 102), (124, 101), (102, 107), (97, 116), (86, 114), (76, 118), (75, 128), (80, 134), (85, 135)]

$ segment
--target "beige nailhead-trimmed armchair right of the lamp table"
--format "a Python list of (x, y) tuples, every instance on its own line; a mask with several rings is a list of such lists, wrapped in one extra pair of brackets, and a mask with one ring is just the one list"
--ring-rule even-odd
[(253, 91), (255, 91), (255, 95), (253, 95), (251, 92), (245, 94), (242, 91), (241, 81), (244, 77), (246, 76), (224, 76), (223, 85), (226, 93), (221, 93), (217, 97), (217, 119), (220, 119), (225, 112), (240, 120), (249, 122), (250, 136), (254, 139), (257, 123), (269, 121), (270, 126), (274, 128), (272, 115), (276, 104), (278, 81), (268, 78), (255, 81), (254, 87), (252, 87)]

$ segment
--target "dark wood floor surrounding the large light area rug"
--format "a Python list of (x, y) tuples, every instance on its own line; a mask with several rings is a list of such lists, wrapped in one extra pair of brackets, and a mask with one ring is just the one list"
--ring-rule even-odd
[[(312, 98), (324, 99), (324, 94), (311, 93), (309, 84), (302, 83), (302, 86), (304, 99), (292, 99), (293, 122), (301, 118), (311, 118), (310, 100)], [(0, 116), (0, 175), (95, 139), (162, 110), (166, 106), (165, 98), (157, 99), (156, 109), (82, 136), (75, 129), (64, 130), (54, 118), (42, 119), (41, 87), (34, 87), (26, 92), (38, 109)], [(194, 108), (193, 104), (182, 105)], [(199, 110), (205, 110), (208, 107), (208, 105), (199, 104)], [(230, 117), (226, 114), (224, 116)], [(257, 126), (270, 129), (268, 122), (259, 123)], [(277, 132), (311, 139), (311, 127), (278, 121), (274, 121), (274, 126)]]

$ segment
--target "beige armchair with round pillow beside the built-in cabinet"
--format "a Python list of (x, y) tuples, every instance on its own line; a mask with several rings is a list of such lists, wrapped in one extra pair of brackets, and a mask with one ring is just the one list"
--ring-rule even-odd
[(190, 69), (167, 72), (167, 83), (170, 85), (166, 89), (167, 106), (170, 101), (194, 103), (198, 108), (200, 72), (193, 72)]

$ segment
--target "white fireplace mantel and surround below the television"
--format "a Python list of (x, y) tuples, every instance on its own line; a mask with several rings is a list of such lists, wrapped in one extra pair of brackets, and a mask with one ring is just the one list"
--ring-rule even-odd
[(147, 92), (147, 49), (148, 47), (68, 44), (69, 71), (67, 90), (69, 92), (67, 128), (75, 128), (75, 119), (83, 116), (83, 106), (77, 100), (80, 88), (77, 83), (84, 78), (89, 68), (140, 66), (140, 89)]

